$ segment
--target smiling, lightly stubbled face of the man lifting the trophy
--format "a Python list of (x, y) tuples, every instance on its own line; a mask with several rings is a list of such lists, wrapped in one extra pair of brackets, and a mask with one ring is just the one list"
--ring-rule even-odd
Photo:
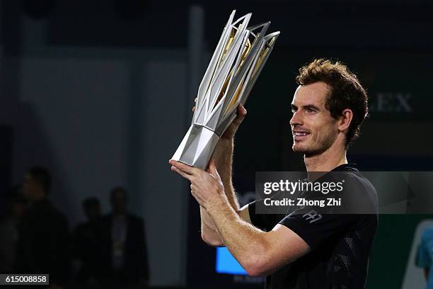
[(325, 108), (329, 89), (322, 81), (299, 86), (291, 102), (294, 152), (306, 157), (325, 152), (338, 135), (337, 120)]

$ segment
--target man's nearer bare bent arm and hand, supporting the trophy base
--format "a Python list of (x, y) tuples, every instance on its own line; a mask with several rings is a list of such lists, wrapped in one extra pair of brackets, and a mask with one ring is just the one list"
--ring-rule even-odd
[(284, 225), (263, 232), (242, 220), (224, 193), (214, 161), (209, 164), (209, 173), (180, 162), (170, 163), (173, 171), (191, 182), (192, 196), (212, 218), (221, 240), (248, 275), (267, 275), (310, 251), (304, 239)]

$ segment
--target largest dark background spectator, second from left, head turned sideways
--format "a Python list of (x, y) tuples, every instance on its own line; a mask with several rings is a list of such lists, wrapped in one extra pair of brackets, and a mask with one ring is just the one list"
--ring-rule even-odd
[(30, 207), (18, 229), (16, 273), (49, 273), (52, 288), (62, 288), (69, 273), (68, 223), (47, 198), (50, 186), (50, 173), (43, 167), (25, 174), (23, 196)]

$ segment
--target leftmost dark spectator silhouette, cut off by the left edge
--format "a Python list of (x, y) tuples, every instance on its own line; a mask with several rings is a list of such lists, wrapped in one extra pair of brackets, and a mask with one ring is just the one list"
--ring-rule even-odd
[(6, 215), (0, 220), (0, 273), (13, 273), (16, 263), (18, 226), (25, 210), (19, 186), (6, 194)]

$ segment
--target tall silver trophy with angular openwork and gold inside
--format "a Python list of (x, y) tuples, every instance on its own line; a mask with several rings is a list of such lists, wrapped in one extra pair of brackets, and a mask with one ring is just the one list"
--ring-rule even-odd
[(171, 159), (206, 169), (219, 137), (245, 103), (279, 31), (265, 35), (270, 22), (248, 26), (251, 13), (233, 22), (233, 10), (198, 89), (192, 123)]

